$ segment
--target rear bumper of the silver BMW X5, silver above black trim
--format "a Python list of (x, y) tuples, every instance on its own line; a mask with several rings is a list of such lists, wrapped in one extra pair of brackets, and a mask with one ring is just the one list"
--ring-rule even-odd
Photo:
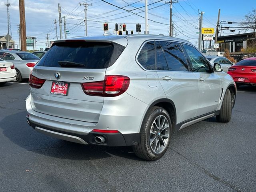
[[(138, 144), (143, 114), (148, 105), (128, 94), (120, 100), (110, 99), (104, 101), (98, 122), (84, 122), (36, 112), (31, 107), (32, 99), (29, 95), (26, 99), (27, 120), (38, 132), (62, 140), (104, 146)], [(123, 102), (123, 99), (130, 100)], [(93, 132), (94, 129), (117, 130), (119, 133), (98, 133)], [(94, 140), (96, 136), (103, 136), (106, 141), (98, 144)]]

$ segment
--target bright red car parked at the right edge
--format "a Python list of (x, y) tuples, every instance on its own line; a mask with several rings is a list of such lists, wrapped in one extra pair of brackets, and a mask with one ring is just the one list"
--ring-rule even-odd
[(247, 58), (228, 68), (237, 86), (249, 84), (256, 86), (256, 58)]

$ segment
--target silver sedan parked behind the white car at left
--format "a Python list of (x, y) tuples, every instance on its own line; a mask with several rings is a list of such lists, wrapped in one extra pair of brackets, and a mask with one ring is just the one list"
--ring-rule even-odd
[(13, 80), (14, 82), (29, 78), (31, 70), (40, 59), (30, 52), (6, 50), (0, 50), (0, 58), (15, 65), (16, 78)]

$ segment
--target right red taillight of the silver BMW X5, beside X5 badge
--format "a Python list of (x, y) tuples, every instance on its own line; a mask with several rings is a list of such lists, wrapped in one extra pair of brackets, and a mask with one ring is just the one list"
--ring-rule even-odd
[(104, 81), (82, 83), (82, 88), (87, 95), (114, 97), (126, 92), (129, 84), (126, 76), (106, 75)]

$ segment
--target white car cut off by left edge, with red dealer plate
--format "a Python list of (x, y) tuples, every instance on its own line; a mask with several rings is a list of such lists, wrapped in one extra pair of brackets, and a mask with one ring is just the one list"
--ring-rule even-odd
[(16, 70), (14, 64), (0, 59), (0, 85), (15, 80)]

